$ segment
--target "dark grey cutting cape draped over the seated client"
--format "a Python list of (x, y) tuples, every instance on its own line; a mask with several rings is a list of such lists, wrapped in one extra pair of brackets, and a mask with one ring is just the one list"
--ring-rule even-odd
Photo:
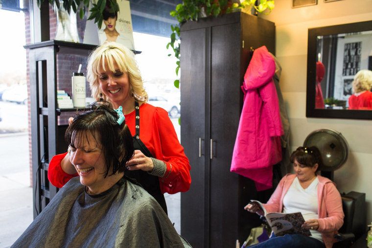
[(122, 178), (89, 195), (79, 177), (55, 195), (12, 247), (183, 248), (162, 207), (140, 186)]

